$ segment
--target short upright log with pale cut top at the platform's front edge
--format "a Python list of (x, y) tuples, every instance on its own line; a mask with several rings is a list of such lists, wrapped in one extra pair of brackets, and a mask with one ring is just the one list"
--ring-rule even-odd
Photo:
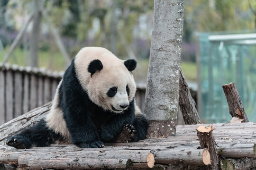
[(206, 148), (210, 153), (210, 165), (206, 166), (206, 170), (219, 170), (219, 158), (217, 149), (212, 135), (212, 127), (197, 127), (197, 136), (200, 141), (201, 149)]

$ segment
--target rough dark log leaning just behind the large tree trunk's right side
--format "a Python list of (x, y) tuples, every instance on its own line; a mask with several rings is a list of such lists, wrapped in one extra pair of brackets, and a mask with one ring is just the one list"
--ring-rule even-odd
[(179, 90), (179, 106), (183, 114), (185, 124), (192, 125), (201, 123), (201, 119), (196, 109), (196, 103), (189, 91), (188, 84), (185, 80), (182, 68), (180, 67), (180, 90)]

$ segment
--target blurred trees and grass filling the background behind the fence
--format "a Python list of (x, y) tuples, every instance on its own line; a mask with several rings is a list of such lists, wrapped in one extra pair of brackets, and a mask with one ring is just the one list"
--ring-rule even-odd
[[(250, 2), (250, 3), (249, 3)], [(0, 62), (18, 31), (34, 11), (34, 0), (0, 0)], [(251, 8), (249, 6), (251, 4)], [(154, 0), (45, 0), (42, 8), (64, 42), (70, 58), (84, 46), (101, 46), (121, 59), (136, 58), (137, 82), (146, 82)], [(255, 0), (186, 0), (182, 67), (196, 80), (198, 32), (255, 29)], [(65, 60), (42, 17), (38, 67), (64, 70)], [(13, 51), (9, 63), (28, 66), (33, 22)]]

